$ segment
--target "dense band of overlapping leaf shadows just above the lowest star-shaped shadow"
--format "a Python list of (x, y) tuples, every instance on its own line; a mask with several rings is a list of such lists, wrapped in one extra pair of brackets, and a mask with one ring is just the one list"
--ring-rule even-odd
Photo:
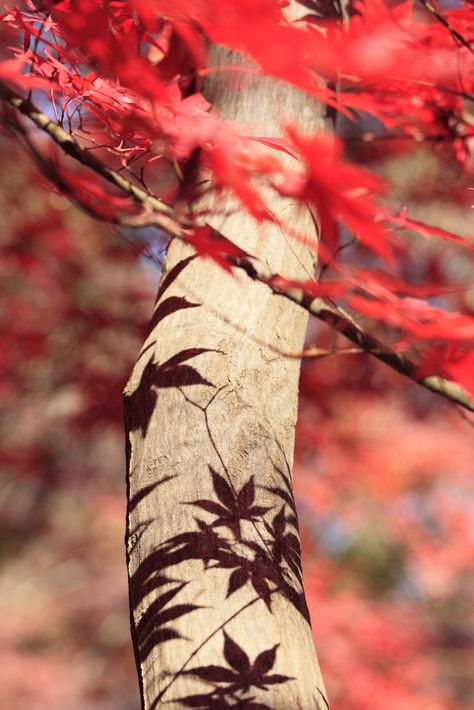
[[(272, 612), (272, 597), (281, 594), (309, 623), (301, 579), (299, 540), (296, 531), (292, 530), (292, 508), (285, 502), (282, 504), (276, 495), (274, 506), (257, 505), (253, 475), (236, 490), (211, 466), (209, 473), (214, 496), (184, 503), (202, 511), (194, 517), (195, 529), (174, 535), (158, 545), (132, 575), (130, 589), (134, 616), (141, 610), (143, 600), (159, 591), (136, 623), (135, 639), (141, 661), (156, 645), (183, 638), (168, 625), (170, 622), (203, 608), (189, 603), (168, 606), (192, 581), (171, 579), (166, 574), (183, 562), (201, 561), (204, 573), (211, 569), (227, 572), (226, 598), (249, 585)], [(170, 479), (145, 487), (134, 496), (132, 503)], [(142, 521), (137, 526), (130, 536), (130, 545), (136, 544), (134, 534), (141, 536), (149, 524), (150, 521)], [(164, 585), (171, 585), (171, 588), (161, 592)], [(227, 647), (231, 647), (229, 643)]]

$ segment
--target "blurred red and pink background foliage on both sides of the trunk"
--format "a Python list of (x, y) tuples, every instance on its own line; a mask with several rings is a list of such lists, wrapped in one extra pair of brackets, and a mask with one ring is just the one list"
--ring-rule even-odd
[[(472, 233), (442, 150), (388, 150), (367, 126), (346, 138), (413, 217)], [(138, 710), (121, 391), (159, 268), (8, 137), (0, 155), (0, 707)], [(417, 238), (404, 269), (454, 285), (472, 260)], [(474, 306), (469, 290), (443, 298)], [(346, 345), (315, 323), (308, 343)], [(473, 707), (473, 439), (467, 415), (366, 355), (303, 363), (294, 478), (333, 710)]]

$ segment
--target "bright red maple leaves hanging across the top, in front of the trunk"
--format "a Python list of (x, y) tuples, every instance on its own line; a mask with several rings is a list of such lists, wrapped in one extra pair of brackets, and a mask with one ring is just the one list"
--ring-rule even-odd
[[(381, 198), (388, 186), (348, 162), (333, 137), (303, 137), (297, 126), (289, 126), (286, 134), (282, 127), (284, 138), (259, 143), (222, 121), (199, 87), (213, 70), (206, 67), (208, 44), (219, 43), (252, 61), (251, 69), (232, 70), (290, 82), (349, 119), (372, 116), (379, 131), (389, 130), (413, 146), (420, 141), (442, 144), (469, 175), (474, 12), (469, 5), (450, 10), (443, 24), (411, 0), (360, 0), (352, 4), (347, 23), (305, 13), (304, 8), (290, 21), (287, 4), (10, 2), (2, 20), (11, 50), (0, 63), (0, 77), (20, 90), (33, 90), (42, 106), (45, 99), (50, 101), (51, 116), (77, 140), (160, 197), (171, 200), (178, 189), (178, 181), (169, 179), (170, 166), (180, 175), (199, 154), (213, 179), (212, 189), (232, 193), (257, 221), (276, 220), (263, 197), (272, 192), (309, 204), (321, 226), (319, 258), (335, 271), (341, 304), (388, 327), (392, 343), (415, 347), (423, 372), (456, 376), (470, 388), (459, 352), (472, 345), (472, 321), (467, 315), (433, 310), (423, 295), (429, 286), (406, 282), (400, 230), (469, 245), (408, 218), (400, 206), (387, 207)], [(335, 82), (337, 94), (330, 88)], [(282, 151), (294, 156), (295, 167), (283, 164)], [(77, 182), (74, 188), (74, 181), (69, 183), (86, 206), (97, 204), (99, 197), (102, 219), (113, 221), (129, 208), (94, 181), (87, 189), (84, 180), (79, 194)], [(226, 267), (226, 255), (235, 255), (234, 247), (224, 239), (219, 243), (205, 218), (199, 215), (195, 230), (187, 232), (189, 239), (198, 253)], [(368, 279), (338, 258), (341, 229), (376, 258), (377, 270)], [(381, 262), (390, 274), (382, 273)], [(396, 294), (390, 278), (397, 280)]]

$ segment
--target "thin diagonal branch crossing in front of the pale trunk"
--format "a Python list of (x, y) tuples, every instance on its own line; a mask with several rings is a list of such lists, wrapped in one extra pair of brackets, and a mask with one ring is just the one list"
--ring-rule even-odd
[[(424, 0), (421, 1), (424, 2)], [(189, 229), (190, 224), (187, 220), (179, 218), (171, 206), (133, 185), (115, 170), (104, 165), (89, 151), (84, 150), (63, 128), (53, 123), (46, 114), (39, 111), (31, 101), (21, 98), (1, 82), (0, 97), (47, 133), (65, 153), (105, 178), (145, 208), (144, 215), (131, 219), (122, 218), (122, 224), (128, 222), (128, 226), (158, 226), (173, 236), (187, 241), (185, 230)], [(340, 308), (328, 304), (322, 298), (309, 296), (303, 289), (279, 286), (278, 284), (282, 282), (281, 276), (271, 273), (267, 267), (251, 255), (227, 257), (227, 260), (232, 266), (245, 271), (252, 280), (265, 284), (273, 293), (298, 304), (318, 318), (318, 320), (329, 325), (333, 330), (342, 333), (358, 348), (373, 355), (401, 375), (417, 382), (431, 392), (474, 412), (474, 400), (460, 385), (437, 375), (419, 377), (415, 363), (404, 355), (390, 349), (369, 333), (366, 333)]]

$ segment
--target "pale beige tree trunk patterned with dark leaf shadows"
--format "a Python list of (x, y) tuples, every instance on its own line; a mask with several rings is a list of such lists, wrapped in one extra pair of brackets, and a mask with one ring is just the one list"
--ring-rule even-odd
[[(206, 90), (254, 135), (323, 125), (321, 107), (281, 82), (229, 72)], [(271, 207), (314, 233), (287, 201)], [(311, 251), (281, 229), (235, 211), (209, 221), (272, 270), (313, 273)], [(171, 242), (125, 390), (132, 635), (147, 710), (327, 706), (291, 483), (299, 361), (265, 345), (299, 351), (305, 326), (298, 306)]]

